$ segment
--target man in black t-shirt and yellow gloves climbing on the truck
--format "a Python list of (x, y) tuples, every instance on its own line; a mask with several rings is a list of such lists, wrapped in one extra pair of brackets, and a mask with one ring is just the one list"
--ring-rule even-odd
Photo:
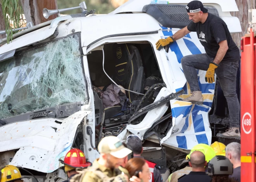
[(190, 86), (191, 96), (183, 101), (203, 104), (197, 71), (205, 70), (205, 81), (215, 82), (216, 73), (228, 103), (230, 128), (217, 136), (240, 139), (239, 112), (240, 105), (236, 93), (236, 76), (240, 60), (240, 52), (234, 43), (227, 24), (220, 18), (208, 13), (200, 1), (192, 1), (186, 6), (190, 24), (176, 32), (173, 36), (160, 39), (156, 43), (157, 50), (170, 45), (190, 32), (197, 32), (197, 37), (206, 54), (193, 54), (182, 58), (182, 68)]

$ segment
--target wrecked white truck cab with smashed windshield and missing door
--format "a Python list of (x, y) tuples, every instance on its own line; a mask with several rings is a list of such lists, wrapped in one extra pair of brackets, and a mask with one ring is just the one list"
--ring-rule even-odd
[[(204, 105), (180, 100), (190, 94), (181, 58), (205, 53), (196, 33), (169, 51), (155, 48), (189, 23), (189, 2), (130, 0), (107, 15), (65, 15), (14, 34), (12, 43), (0, 47), (0, 165), (61, 181), (66, 176), (59, 158), (74, 147), (93, 162), (103, 135), (125, 141), (136, 134), (161, 143), (176, 151), (168, 161), (180, 153), (184, 159), (197, 143), (211, 144), (215, 83), (206, 83), (205, 71), (198, 70)], [(230, 15), (238, 11), (234, 0), (202, 2), (230, 32), (241, 31)], [(125, 88), (125, 105), (102, 103), (97, 88), (111, 83)], [(169, 162), (165, 168), (181, 165)]]

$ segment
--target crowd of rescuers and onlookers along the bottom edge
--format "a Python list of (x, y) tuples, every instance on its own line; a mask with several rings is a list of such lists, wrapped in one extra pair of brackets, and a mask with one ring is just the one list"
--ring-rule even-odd
[[(65, 182), (163, 182), (160, 167), (141, 156), (142, 141), (136, 135), (128, 136), (126, 143), (107, 136), (100, 141), (98, 151), (100, 157), (93, 163), (86, 162), (83, 151), (76, 148), (60, 159), (68, 177)], [(239, 143), (198, 144), (186, 160), (188, 166), (172, 173), (166, 182), (240, 182)], [(0, 182), (23, 182), (27, 178), (12, 165), (3, 167), (0, 175)]]

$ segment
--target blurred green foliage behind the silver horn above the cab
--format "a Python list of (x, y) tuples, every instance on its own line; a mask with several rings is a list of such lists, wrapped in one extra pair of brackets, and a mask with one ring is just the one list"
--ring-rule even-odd
[[(95, 14), (108, 14), (112, 12), (115, 8), (109, 2), (109, 0), (57, 0), (58, 9), (76, 7), (79, 3), (85, 1), (87, 10), (94, 10)], [(80, 13), (79, 10), (73, 10), (65, 12), (64, 14), (74, 14)]]

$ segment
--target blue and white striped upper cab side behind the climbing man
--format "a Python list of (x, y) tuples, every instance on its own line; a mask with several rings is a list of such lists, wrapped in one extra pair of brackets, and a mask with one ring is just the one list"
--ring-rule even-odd
[[(171, 29), (163, 26), (160, 27), (162, 28), (161, 32), (163, 32), (162, 38), (172, 36), (178, 31), (178, 29)], [(175, 87), (175, 91), (178, 92), (182, 90), (182, 88), (185, 90), (185, 94), (180, 96), (181, 99), (185, 99), (190, 96), (190, 87), (183, 74), (181, 59), (183, 56), (201, 53), (205, 53), (205, 50), (198, 40), (196, 32), (190, 32), (182, 39), (172, 43), (170, 45), (169, 52), (166, 53), (169, 66), (173, 71), (173, 85)], [(215, 83), (205, 82), (205, 73), (206, 71), (197, 70), (199, 87), (204, 97), (204, 105), (211, 107), (213, 103)]]

